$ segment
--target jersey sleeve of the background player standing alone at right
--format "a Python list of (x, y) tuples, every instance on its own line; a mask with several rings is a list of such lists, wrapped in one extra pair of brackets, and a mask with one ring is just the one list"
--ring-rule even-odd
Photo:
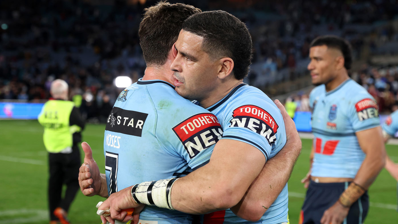
[(380, 126), (378, 106), (369, 94), (359, 94), (348, 104), (349, 120), (355, 132)]

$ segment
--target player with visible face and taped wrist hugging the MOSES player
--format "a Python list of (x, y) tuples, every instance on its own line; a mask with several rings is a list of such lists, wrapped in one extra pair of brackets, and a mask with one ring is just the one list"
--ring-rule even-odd
[[(289, 222), (287, 179), (278, 174), (279, 169), (286, 169), (285, 164), (260, 173), (267, 159), (279, 155), (286, 137), (277, 106), (261, 90), (242, 82), (251, 63), (251, 51), (252, 40), (245, 24), (224, 11), (197, 13), (185, 20), (174, 46), (174, 85), (178, 94), (197, 100), (217, 116), (223, 136), (209, 163), (189, 175), (177, 181), (140, 183), (110, 195), (99, 208), (110, 208), (109, 222), (123, 218), (121, 209), (141, 203), (190, 214), (235, 206), (235, 214), (254, 223)], [(176, 134), (181, 128), (176, 127)], [(280, 179), (277, 182), (283, 190), (269, 206), (264, 202), (275, 186), (266, 181), (273, 178)], [(156, 186), (156, 192), (148, 186)], [(209, 223), (248, 223), (232, 211), (220, 212), (220, 218)]]

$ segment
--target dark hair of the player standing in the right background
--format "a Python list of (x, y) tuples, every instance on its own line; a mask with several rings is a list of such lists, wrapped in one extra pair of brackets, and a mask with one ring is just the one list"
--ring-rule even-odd
[(352, 50), (351, 44), (344, 38), (334, 35), (324, 35), (316, 37), (310, 44), (310, 47), (326, 45), (330, 48), (335, 48), (341, 51), (344, 57), (344, 67), (350, 70), (352, 64)]

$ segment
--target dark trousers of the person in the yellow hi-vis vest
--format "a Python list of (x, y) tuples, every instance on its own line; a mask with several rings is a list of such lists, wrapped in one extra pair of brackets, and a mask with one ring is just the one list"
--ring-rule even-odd
[[(77, 145), (73, 145), (72, 153), (49, 153), (49, 186), (48, 199), (50, 220), (58, 220), (53, 212), (61, 207), (66, 212), (79, 190), (80, 152)], [(62, 185), (66, 185), (66, 192), (62, 198)]]

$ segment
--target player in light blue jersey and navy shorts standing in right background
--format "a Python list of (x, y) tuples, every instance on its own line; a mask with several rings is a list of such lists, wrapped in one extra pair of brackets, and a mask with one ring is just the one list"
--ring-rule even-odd
[(312, 84), (311, 169), (300, 224), (362, 224), (369, 208), (367, 189), (384, 167), (386, 152), (378, 106), (349, 78), (351, 46), (336, 36), (310, 45)]

